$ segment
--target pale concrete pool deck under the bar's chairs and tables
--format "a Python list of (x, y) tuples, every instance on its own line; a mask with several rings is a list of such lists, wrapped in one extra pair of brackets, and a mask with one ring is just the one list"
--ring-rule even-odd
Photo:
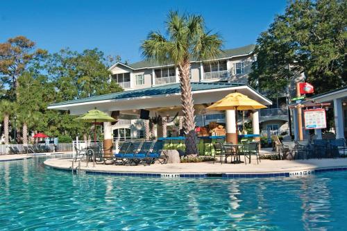
[[(50, 166), (54, 169), (64, 169), (71, 171), (72, 160), (71, 159), (49, 159), (44, 162), (46, 166)], [(74, 163), (74, 169), (76, 169), (77, 163)], [(148, 173), (155, 174), (176, 174), (176, 175), (215, 175), (215, 174), (251, 174), (259, 175), (277, 174), (276, 176), (284, 176), (282, 173), (286, 173), (285, 176), (292, 175), (307, 175), (313, 173), (312, 171), (324, 170), (324, 169), (347, 169), (347, 158), (339, 159), (311, 159), (311, 160), (262, 160), (260, 164), (257, 164), (255, 160), (251, 164), (220, 164), (219, 162), (199, 162), (199, 163), (180, 163), (180, 164), (151, 164), (150, 166), (137, 165), (137, 166), (124, 166), (124, 165), (103, 165), (96, 164), (93, 167), (93, 163), (90, 162), (89, 166), (86, 166), (85, 162), (81, 162), (81, 171), (87, 173), (143, 173), (144, 176)], [(306, 173), (304, 173), (306, 172)], [(117, 174), (115, 174), (117, 175)], [(122, 176), (122, 175), (120, 175)], [(132, 175), (130, 175), (132, 176)], [(272, 176), (272, 175), (271, 175)]]

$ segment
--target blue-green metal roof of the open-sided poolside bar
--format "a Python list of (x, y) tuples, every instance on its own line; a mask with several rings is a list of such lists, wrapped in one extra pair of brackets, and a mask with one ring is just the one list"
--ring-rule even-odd
[[(205, 89), (219, 89), (219, 88), (236, 87), (236, 86), (242, 86), (242, 85), (245, 85), (245, 84), (242, 84), (242, 83), (192, 83), (192, 91), (195, 92), (195, 91), (201, 91)], [(49, 107), (57, 106), (57, 105), (74, 104), (74, 103), (85, 103), (85, 102), (92, 102), (92, 101), (127, 99), (127, 98), (141, 97), (141, 96), (157, 96), (161, 94), (175, 94), (179, 92), (180, 92), (180, 84), (174, 83), (174, 84), (162, 85), (157, 87), (148, 87), (144, 89), (135, 89), (131, 91), (117, 92), (112, 94), (103, 94), (101, 96), (92, 96), (92, 97), (83, 98), (83, 99), (75, 99), (72, 101), (53, 103), (49, 105)]]

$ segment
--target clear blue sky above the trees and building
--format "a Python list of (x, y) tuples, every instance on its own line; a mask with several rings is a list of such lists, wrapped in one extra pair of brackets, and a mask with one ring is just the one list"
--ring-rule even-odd
[(221, 33), (224, 48), (254, 44), (285, 10), (286, 0), (249, 1), (2, 1), (0, 42), (24, 35), (50, 52), (93, 49), (123, 60), (141, 60), (139, 45), (150, 31), (164, 32), (169, 10), (201, 14)]

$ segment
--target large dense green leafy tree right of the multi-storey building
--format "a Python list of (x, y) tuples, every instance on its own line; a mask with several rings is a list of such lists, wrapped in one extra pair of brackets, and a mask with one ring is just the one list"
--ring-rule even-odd
[(305, 73), (316, 93), (347, 84), (345, 0), (291, 1), (260, 34), (251, 85), (273, 96)]

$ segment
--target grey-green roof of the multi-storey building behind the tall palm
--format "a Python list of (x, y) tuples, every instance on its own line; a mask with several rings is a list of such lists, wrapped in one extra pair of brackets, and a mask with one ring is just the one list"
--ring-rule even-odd
[[(252, 53), (255, 49), (254, 44), (250, 44), (247, 46), (242, 46), (238, 47), (235, 49), (226, 49), (217, 57), (219, 58), (230, 58), (232, 56), (237, 56), (237, 55), (248, 55)], [(159, 63), (159, 62), (151, 62), (151, 61), (140, 61), (140, 62), (134, 62), (129, 65), (128, 67), (131, 67), (133, 69), (141, 69), (144, 67), (159, 67), (159, 66), (166, 66), (166, 65), (173, 65), (172, 63)]]

